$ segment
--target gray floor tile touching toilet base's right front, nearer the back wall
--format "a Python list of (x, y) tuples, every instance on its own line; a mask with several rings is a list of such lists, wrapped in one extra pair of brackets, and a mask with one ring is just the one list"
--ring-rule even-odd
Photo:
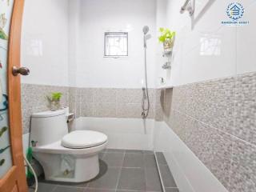
[(102, 160), (106, 162), (107, 166), (122, 167), (124, 154), (106, 153)]

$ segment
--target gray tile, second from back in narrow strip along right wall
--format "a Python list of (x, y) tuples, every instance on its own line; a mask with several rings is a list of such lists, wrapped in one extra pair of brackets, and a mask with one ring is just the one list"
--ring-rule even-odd
[(159, 165), (160, 174), (162, 176), (162, 182), (165, 187), (177, 187), (174, 181), (173, 175), (170, 173), (170, 169), (167, 165)]

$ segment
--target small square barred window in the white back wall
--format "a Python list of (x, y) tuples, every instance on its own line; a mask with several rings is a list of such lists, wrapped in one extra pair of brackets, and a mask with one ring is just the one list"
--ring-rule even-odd
[(105, 33), (106, 57), (128, 56), (128, 33), (127, 32), (107, 32)]

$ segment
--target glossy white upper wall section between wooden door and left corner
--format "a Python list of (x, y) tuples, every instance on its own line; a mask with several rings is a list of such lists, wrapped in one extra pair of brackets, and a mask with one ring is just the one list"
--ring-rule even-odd
[(27, 0), (22, 26), (22, 82), (68, 85), (68, 0)]

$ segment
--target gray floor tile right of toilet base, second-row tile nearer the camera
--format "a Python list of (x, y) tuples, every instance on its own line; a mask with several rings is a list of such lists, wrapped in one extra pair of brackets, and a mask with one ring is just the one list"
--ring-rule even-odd
[(89, 188), (115, 190), (118, 184), (121, 168), (107, 167), (107, 170), (100, 171), (100, 174), (89, 182)]

